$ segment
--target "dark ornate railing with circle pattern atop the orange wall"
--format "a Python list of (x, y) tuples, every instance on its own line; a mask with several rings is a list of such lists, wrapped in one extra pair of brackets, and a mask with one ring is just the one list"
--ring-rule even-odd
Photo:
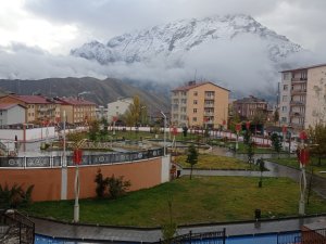
[[(163, 156), (163, 149), (153, 149), (139, 152), (83, 155), (83, 160), (80, 165), (118, 164), (126, 162), (142, 160), (147, 158)], [(63, 156), (0, 157), (0, 167), (62, 167), (64, 162), (63, 159)], [(66, 166), (73, 165), (73, 156), (66, 156)]]

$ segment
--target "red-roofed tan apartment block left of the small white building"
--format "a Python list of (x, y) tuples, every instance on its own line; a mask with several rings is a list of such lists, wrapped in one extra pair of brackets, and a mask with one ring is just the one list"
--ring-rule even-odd
[(55, 98), (61, 104), (60, 117), (66, 116), (66, 123), (88, 125), (97, 119), (96, 104), (82, 98)]

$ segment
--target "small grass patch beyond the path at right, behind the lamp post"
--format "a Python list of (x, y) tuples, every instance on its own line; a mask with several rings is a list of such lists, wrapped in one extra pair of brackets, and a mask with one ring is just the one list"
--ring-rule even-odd
[[(297, 157), (289, 157), (289, 158), (271, 158), (271, 162), (285, 165), (288, 167), (300, 169), (300, 164)], [(318, 158), (312, 157), (310, 164), (305, 167), (306, 172), (312, 172), (319, 177), (326, 178), (326, 174), (322, 174), (321, 171), (326, 171), (326, 158), (323, 158), (322, 164), (318, 165)]]

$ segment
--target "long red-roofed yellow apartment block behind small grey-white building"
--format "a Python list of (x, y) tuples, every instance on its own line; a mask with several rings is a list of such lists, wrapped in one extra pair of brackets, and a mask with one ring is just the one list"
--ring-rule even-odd
[(60, 117), (60, 103), (42, 95), (10, 94), (1, 97), (0, 103), (16, 103), (26, 107), (25, 123), (55, 123)]

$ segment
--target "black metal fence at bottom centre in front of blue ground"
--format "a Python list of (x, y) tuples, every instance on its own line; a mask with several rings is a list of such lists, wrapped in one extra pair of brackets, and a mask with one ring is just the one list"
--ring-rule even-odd
[(204, 232), (204, 233), (192, 233), (183, 234), (175, 236), (171, 240), (162, 241), (156, 243), (160, 244), (225, 244), (225, 229), (222, 231)]

